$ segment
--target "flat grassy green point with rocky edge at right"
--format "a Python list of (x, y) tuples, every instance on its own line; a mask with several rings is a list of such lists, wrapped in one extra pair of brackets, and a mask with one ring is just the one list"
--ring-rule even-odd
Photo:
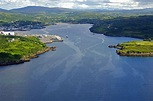
[(153, 56), (153, 41), (130, 41), (109, 48), (117, 48), (116, 53), (120, 56)]

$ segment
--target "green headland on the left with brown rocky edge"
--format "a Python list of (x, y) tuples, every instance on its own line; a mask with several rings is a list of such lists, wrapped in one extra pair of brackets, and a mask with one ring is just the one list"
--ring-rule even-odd
[(0, 66), (28, 62), (49, 50), (56, 47), (47, 47), (36, 36), (0, 35)]

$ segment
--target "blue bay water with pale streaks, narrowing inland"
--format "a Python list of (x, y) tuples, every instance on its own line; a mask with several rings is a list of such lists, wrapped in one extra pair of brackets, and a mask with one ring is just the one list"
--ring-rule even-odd
[[(120, 57), (110, 44), (134, 40), (93, 34), (89, 24), (58, 24), (56, 51), (0, 67), (0, 101), (153, 101), (153, 58)], [(68, 38), (66, 38), (68, 36)]]

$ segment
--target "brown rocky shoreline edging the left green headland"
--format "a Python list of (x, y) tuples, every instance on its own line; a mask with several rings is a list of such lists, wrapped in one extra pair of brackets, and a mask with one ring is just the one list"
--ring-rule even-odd
[(24, 57), (18, 61), (7, 61), (7, 62), (0, 62), (0, 66), (8, 66), (8, 65), (15, 65), (15, 64), (22, 64), (24, 62), (29, 62), (30, 59), (33, 59), (33, 58), (37, 58), (39, 57), (40, 54), (43, 54), (45, 52), (48, 52), (48, 51), (55, 51), (56, 50), (56, 47), (55, 46), (52, 46), (52, 47), (46, 47), (44, 48), (43, 50), (41, 51), (38, 51), (37, 53), (35, 54), (31, 54), (27, 57)]

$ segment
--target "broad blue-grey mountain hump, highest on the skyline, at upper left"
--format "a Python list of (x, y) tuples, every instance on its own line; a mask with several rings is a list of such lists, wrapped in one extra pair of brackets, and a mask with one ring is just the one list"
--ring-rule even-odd
[(49, 8), (49, 7), (41, 7), (41, 6), (28, 6), (24, 8), (12, 9), (10, 12), (17, 13), (61, 13), (61, 12), (71, 12), (73, 10), (66, 8)]

